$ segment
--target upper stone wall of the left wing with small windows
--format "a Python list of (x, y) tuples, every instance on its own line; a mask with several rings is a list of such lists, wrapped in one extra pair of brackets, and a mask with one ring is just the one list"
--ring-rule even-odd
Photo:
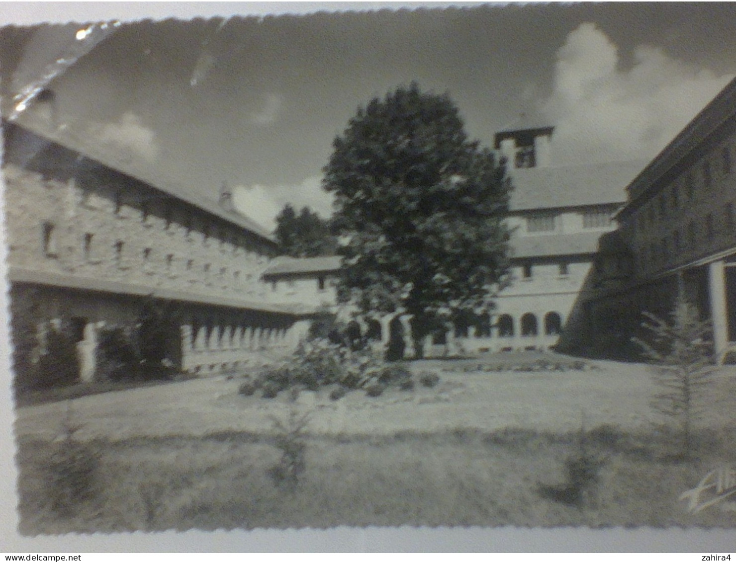
[[(120, 178), (4, 168), (8, 265), (261, 301), (273, 249), (196, 207)], [(124, 191), (124, 194), (120, 194)]]

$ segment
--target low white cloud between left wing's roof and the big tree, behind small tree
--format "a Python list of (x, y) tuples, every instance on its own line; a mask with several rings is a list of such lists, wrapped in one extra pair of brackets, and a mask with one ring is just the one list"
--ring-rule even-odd
[(233, 189), (233, 204), (266, 229), (276, 227), (275, 218), (287, 203), (297, 211), (310, 207), (322, 218), (332, 214), (333, 196), (322, 190), (322, 177), (311, 176), (298, 185), (239, 185)]

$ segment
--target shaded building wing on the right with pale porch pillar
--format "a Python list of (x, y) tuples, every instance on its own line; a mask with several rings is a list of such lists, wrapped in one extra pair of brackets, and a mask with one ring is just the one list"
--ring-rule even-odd
[(626, 188), (618, 230), (601, 239), (585, 331), (628, 341), (644, 311), (678, 294), (712, 324), (715, 358), (736, 349), (736, 80)]

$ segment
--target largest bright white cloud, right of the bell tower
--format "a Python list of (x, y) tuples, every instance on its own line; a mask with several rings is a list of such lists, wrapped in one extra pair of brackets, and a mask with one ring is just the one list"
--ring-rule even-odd
[(542, 102), (556, 126), (554, 160), (654, 157), (731, 79), (650, 46), (624, 70), (604, 32), (581, 24), (557, 51), (553, 93)]

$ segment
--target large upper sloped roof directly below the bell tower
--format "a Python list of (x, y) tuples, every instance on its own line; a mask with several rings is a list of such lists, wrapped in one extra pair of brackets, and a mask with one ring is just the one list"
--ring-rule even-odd
[(509, 170), (514, 189), (509, 210), (540, 210), (626, 202), (626, 185), (646, 162)]

